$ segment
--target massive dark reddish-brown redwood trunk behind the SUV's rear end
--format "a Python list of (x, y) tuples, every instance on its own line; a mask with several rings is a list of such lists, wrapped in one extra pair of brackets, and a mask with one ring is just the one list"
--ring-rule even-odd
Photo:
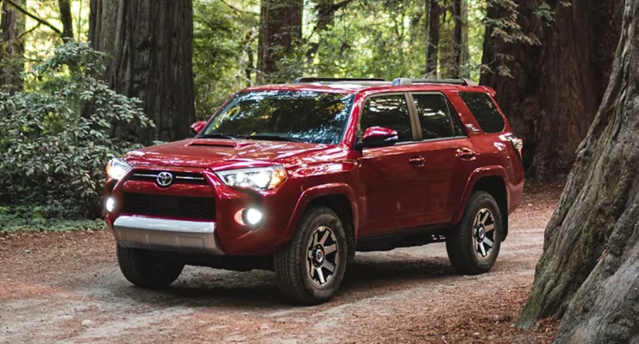
[[(516, 0), (519, 25), (541, 38), (541, 45), (504, 42), (487, 28), (482, 64), (493, 70), (505, 65), (511, 76), (483, 73), (480, 80), (497, 91), (524, 139), (524, 168), (540, 179), (565, 175), (575, 161), (608, 84), (622, 0), (546, 2), (555, 12), (550, 23), (535, 14), (543, 1)], [(493, 4), (488, 16), (499, 18), (505, 11)]]

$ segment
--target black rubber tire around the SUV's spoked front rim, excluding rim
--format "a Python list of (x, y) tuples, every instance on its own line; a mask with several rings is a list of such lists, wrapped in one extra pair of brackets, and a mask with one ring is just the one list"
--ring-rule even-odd
[[(312, 260), (309, 241), (313, 240), (317, 230), (322, 227), (329, 228), (334, 234), (335, 240), (331, 242), (337, 243), (335, 257), (339, 260), (335, 264), (334, 273), (325, 285), (318, 286), (310, 276), (311, 265), (307, 264), (310, 264), (308, 259)], [(293, 239), (273, 256), (273, 268), (280, 291), (286, 299), (297, 304), (311, 305), (327, 302), (337, 292), (344, 277), (348, 251), (344, 226), (337, 214), (328, 207), (312, 207), (300, 220)], [(328, 255), (329, 253), (325, 257), (327, 260)]]

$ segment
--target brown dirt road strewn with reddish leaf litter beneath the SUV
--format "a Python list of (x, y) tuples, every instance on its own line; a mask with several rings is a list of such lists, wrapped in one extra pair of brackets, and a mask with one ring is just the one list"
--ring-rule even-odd
[(273, 273), (186, 267), (132, 287), (108, 231), (0, 235), (0, 343), (548, 343), (515, 328), (562, 185), (526, 188), (490, 273), (460, 276), (442, 243), (358, 253), (327, 304), (287, 304)]

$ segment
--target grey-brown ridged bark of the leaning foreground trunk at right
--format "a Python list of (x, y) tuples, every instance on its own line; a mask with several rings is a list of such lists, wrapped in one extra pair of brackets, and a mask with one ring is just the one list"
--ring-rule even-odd
[(563, 315), (558, 343), (639, 341), (639, 0), (626, 0), (621, 32), (519, 321)]

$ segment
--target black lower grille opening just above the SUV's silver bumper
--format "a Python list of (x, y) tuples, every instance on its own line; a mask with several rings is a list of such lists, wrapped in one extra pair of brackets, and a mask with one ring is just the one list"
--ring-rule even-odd
[(215, 219), (215, 198), (124, 193), (123, 212), (158, 217)]

